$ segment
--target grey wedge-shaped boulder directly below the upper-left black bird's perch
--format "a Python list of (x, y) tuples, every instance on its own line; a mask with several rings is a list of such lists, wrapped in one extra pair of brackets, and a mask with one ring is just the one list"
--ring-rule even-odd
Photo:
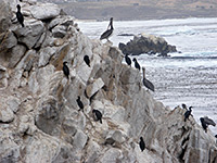
[(25, 27), (14, 30), (18, 41), (26, 45), (28, 49), (31, 49), (36, 45), (43, 32), (43, 23), (35, 20), (25, 21)]

